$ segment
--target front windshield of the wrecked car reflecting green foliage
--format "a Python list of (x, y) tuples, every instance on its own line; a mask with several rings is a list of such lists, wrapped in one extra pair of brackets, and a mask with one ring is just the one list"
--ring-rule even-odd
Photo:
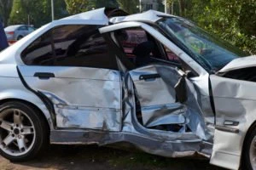
[(165, 18), (159, 26), (171, 37), (175, 37), (196, 56), (197, 62), (219, 71), (231, 60), (247, 56), (228, 42), (214, 37), (195, 24), (181, 18)]

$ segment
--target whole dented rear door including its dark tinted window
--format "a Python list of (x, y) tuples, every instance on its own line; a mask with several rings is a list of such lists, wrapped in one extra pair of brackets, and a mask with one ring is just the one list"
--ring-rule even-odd
[(57, 26), (21, 54), (29, 88), (55, 109), (56, 127), (119, 131), (120, 74), (99, 26)]

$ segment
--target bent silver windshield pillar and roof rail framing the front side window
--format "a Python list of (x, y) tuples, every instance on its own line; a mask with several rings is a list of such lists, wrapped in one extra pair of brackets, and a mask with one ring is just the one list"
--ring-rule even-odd
[[(183, 49), (177, 47), (175, 43), (173, 43), (171, 40), (169, 40), (167, 37), (165, 37), (160, 31), (157, 31), (153, 26), (149, 26), (147, 23), (139, 22), (139, 21), (125, 21), (125, 22), (120, 22), (118, 24), (114, 24), (111, 26), (104, 26), (99, 29), (100, 33), (102, 33), (103, 36), (108, 37), (108, 41), (111, 41), (114, 43), (113, 47), (115, 51), (117, 51), (119, 54), (117, 55), (120, 57), (120, 59), (124, 60), (125, 54), (119, 49), (119, 44), (118, 42), (115, 42), (113, 40), (113, 37), (108, 36), (109, 33), (113, 31), (118, 31), (121, 29), (125, 28), (133, 28), (133, 27), (140, 27), (144, 31), (147, 31), (148, 34), (150, 34), (152, 37), (154, 37), (157, 41), (162, 43), (163, 45), (166, 46), (166, 48), (169, 48), (172, 50), (174, 54), (177, 55), (179, 59), (182, 60), (182, 62), (185, 63), (185, 65), (189, 65), (193, 71), (198, 75), (197, 77), (190, 77), (189, 80), (195, 84), (195, 86), (200, 90), (200, 94), (203, 98), (207, 99), (207, 103), (204, 105), (207, 105), (206, 108), (203, 108), (203, 111), (211, 111), (212, 114), (214, 115), (214, 108), (212, 108), (212, 99), (211, 99), (211, 94), (212, 94), (212, 89), (210, 86), (210, 81), (209, 81), (209, 73), (201, 66), (199, 65), (194, 59), (192, 59), (189, 54), (183, 51)], [(128, 62), (127, 62), (128, 63)], [(203, 102), (204, 99), (201, 99)], [(214, 106), (214, 105), (213, 105)], [(213, 117), (213, 121), (211, 123), (214, 123), (215, 117)], [(215, 124), (214, 124), (215, 125)]]

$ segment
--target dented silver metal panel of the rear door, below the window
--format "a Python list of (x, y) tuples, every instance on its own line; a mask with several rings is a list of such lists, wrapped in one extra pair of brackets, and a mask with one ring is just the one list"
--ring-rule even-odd
[[(54, 105), (57, 127), (121, 129), (119, 71), (85, 67), (21, 66), (26, 83)], [(40, 79), (34, 72), (52, 72)]]

